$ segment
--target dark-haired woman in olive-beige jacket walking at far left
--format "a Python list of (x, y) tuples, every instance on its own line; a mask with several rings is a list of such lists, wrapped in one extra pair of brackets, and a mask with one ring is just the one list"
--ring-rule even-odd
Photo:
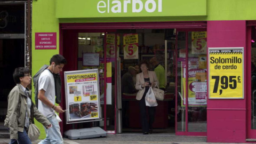
[(8, 95), (8, 109), (4, 126), (9, 128), (10, 143), (31, 143), (27, 130), (30, 121), (34, 122), (34, 119), (30, 119), (30, 117), (35, 117), (46, 129), (49, 129), (52, 125), (31, 101), (31, 93), (27, 88), (31, 83), (29, 69), (24, 67), (15, 68), (13, 79), (17, 85), (13, 87)]

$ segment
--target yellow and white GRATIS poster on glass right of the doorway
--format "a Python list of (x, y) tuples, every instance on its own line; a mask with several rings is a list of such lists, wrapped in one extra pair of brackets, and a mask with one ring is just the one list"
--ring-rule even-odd
[[(183, 97), (181, 106), (186, 106), (186, 63), (181, 62), (182, 91)], [(207, 71), (198, 67), (198, 58), (188, 60), (188, 105), (206, 106), (207, 105)]]

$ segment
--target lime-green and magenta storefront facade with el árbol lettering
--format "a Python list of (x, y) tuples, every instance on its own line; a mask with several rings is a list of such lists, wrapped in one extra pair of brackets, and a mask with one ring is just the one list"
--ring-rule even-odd
[[(225, 2), (213, 0), (33, 1), (32, 39), (34, 40), (32, 41), (32, 75), (35, 75), (42, 65), (48, 64), (52, 55), (57, 53), (64, 55), (68, 60), (64, 68), (65, 71), (84, 68), (81, 64), (82, 56), (79, 56), (79, 54), (84, 53), (84, 50), (89, 50), (89, 46), (85, 49), (81, 48), (78, 41), (79, 37), (84, 37), (85, 40), (87, 37), (107, 39), (107, 36), (113, 35), (114, 47), (118, 47), (118, 39), (123, 39), (127, 34), (138, 34), (138, 45), (149, 45), (150, 42), (147, 42), (147, 38), (158, 42), (157, 38), (163, 37), (160, 40), (161, 42), (159, 42), (161, 44), (162, 42), (164, 43), (163, 49), (159, 48), (159, 50), (165, 51), (162, 53), (164, 55), (163, 65), (166, 69), (168, 63), (173, 63), (174, 65), (174, 67), (170, 68), (174, 69), (172, 71), (174, 75), (167, 74), (167, 70), (166, 75), (173, 76), (173, 79), (167, 80), (168, 85), (176, 82), (174, 83), (175, 86), (173, 86), (174, 91), (172, 93), (175, 95), (173, 96), (175, 103), (175, 134), (204, 135), (207, 136), (207, 142), (246, 142), (246, 140), (256, 138), (256, 130), (251, 127), (253, 118), (251, 119), (252, 90), (250, 88), (251, 47), (253, 47), (251, 39), (253, 39), (253, 29), (255, 29), (255, 22), (253, 20), (256, 20), (256, 17), (253, 15), (253, 6), (255, 4), (256, 2), (254, 1), (243, 3), (239, 0), (228, 0)], [(193, 49), (191, 44), (193, 45), (195, 39), (193, 36), (200, 33), (202, 35), (201, 39), (205, 41), (204, 45), (202, 45), (201, 41), (195, 41), (195, 43), (196, 46), (201, 46), (201, 48), (230, 47), (231, 49), (231, 47), (243, 47), (244, 89), (242, 90), (242, 99), (206, 99), (200, 105), (198, 103), (190, 103), (188, 100), (190, 93), (188, 90), (188, 86), (190, 86), (188, 85), (189, 72), (192, 71), (189, 67), (193, 65), (191, 63), (193, 63), (194, 58), (197, 58), (196, 63), (198, 63), (198, 58), (207, 58), (208, 56), (206, 51), (202, 52), (202, 54), (190, 53), (190, 50)], [(50, 46), (41, 47), (37, 43), (39, 36), (44, 34), (49, 35), (49, 39), (52, 39)], [(86, 41), (83, 42), (86, 43)], [(92, 39), (90, 39), (90, 43), (92, 43)], [(102, 92), (105, 94), (103, 94), (102, 103), (102, 117), (104, 119), (102, 127), (109, 133), (119, 133), (122, 132), (122, 128), (119, 125), (120, 117), (118, 116), (118, 86), (121, 74), (119, 75), (120, 69), (118, 69), (119, 61), (117, 58), (124, 57), (124, 54), (122, 55), (122, 52), (119, 52), (123, 48), (120, 46), (119, 51), (114, 49), (114, 51), (110, 52), (109, 50), (111, 49), (109, 49), (107, 41), (102, 40), (101, 43), (103, 51), (99, 50), (98, 53), (103, 53), (101, 57), (102, 66), (105, 68), (102, 68), (102, 73), (104, 72), (104, 74), (108, 75), (108, 63), (111, 63), (112, 67), (114, 67), (112, 68), (114, 75), (112, 73), (110, 76), (106, 76), (110, 77), (110, 79), (112, 78), (110, 86), (112, 85), (113, 90), (110, 90), (112, 92), (110, 101), (108, 101), (106, 94), (108, 90), (107, 88), (104, 89), (108, 85), (108, 79), (103, 77)], [(159, 47), (162, 46), (161, 44), (159, 44)], [(153, 52), (142, 52), (141, 47), (139, 49), (141, 59), (147, 59), (147, 57), (152, 56), (150, 54)], [(157, 45), (152, 49), (158, 50)], [(113, 54), (108, 57), (107, 53)], [(173, 53), (173, 55), (167, 55), (166, 53)], [(111, 62), (109, 62), (107, 58), (113, 58), (113, 61), (110, 60)], [(206, 63), (206, 61), (204, 62)], [(122, 58), (121, 63), (125, 64)], [(134, 63), (138, 63), (138, 61)], [(126, 64), (129, 66), (134, 65), (134, 63)], [(188, 69), (186, 69), (186, 65)], [(201, 68), (204, 69), (205, 74), (209, 70), (209, 67), (206, 66), (204, 65)], [(206, 84), (207, 78), (201, 79), (199, 82), (205, 82)], [(207, 85), (208, 87), (209, 85)], [(185, 95), (183, 98), (187, 99), (182, 99), (182, 102), (180, 102), (178, 101), (179, 95)], [(65, 108), (64, 94), (62, 94), (60, 105)], [(163, 106), (165, 106), (164, 103)], [(163, 107), (163, 109), (166, 108), (169, 109), (168, 106)], [(60, 116), (65, 119), (65, 115)], [(162, 117), (162, 115), (159, 114), (158, 117)], [(178, 119), (181, 120), (179, 121)], [(202, 129), (199, 130), (197, 124), (202, 126)], [(60, 126), (62, 132), (81, 127), (79, 124), (66, 124), (65, 121), (60, 123)], [(43, 130), (43, 127), (41, 127), (41, 130)], [(41, 137), (43, 138), (44, 134)]]

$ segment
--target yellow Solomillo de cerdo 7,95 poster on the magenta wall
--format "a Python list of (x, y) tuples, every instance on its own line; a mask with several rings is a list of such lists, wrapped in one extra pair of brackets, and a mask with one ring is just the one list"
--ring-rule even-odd
[(244, 48), (209, 48), (209, 99), (244, 98)]

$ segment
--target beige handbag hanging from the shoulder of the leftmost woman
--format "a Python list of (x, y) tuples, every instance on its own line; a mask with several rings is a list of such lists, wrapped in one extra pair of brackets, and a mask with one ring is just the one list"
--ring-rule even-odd
[[(32, 100), (31, 100), (31, 104), (32, 104), (31, 107), (33, 107), (34, 104), (33, 104)], [(28, 107), (27, 107), (27, 111), (28, 111)], [(33, 111), (34, 111), (34, 108), (33, 108)], [(34, 113), (28, 114), (28, 115), (30, 118), (30, 122), (29, 122), (29, 126), (28, 126), (28, 137), (31, 141), (35, 141), (35, 140), (38, 140), (38, 138), (40, 136), (40, 131), (39, 131), (38, 127), (35, 124), (33, 124), (31, 121), (31, 117), (34, 118)], [(33, 116), (31, 116), (31, 115), (33, 115)]]

